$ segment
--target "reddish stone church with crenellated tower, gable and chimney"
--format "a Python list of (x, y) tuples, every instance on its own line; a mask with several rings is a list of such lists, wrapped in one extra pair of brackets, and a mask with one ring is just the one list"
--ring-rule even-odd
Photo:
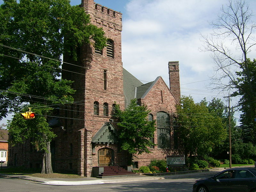
[[(62, 78), (74, 81), (72, 86), (76, 93), (72, 105), (60, 107), (59, 116), (64, 118), (49, 122), (57, 135), (51, 142), (53, 170), (90, 177), (93, 167), (111, 162), (127, 166), (127, 154), (118, 145), (111, 113), (116, 104), (123, 110), (134, 98), (138, 105), (144, 104), (151, 111), (149, 120), (156, 120), (152, 138), (156, 146), (150, 147), (152, 153), (135, 154), (133, 166), (140, 167), (148, 165), (151, 159), (177, 155), (179, 146), (173, 120), (175, 106), (180, 101), (179, 62), (166, 62), (170, 87), (161, 76), (150, 83), (141, 83), (123, 68), (122, 13), (93, 0), (82, 0), (81, 6), (90, 14), (92, 24), (103, 28), (108, 42), (102, 51), (83, 45), (77, 61), (64, 55)], [(29, 145), (27, 142), (16, 148), (10, 147), (8, 164), (40, 167), (42, 152)]]

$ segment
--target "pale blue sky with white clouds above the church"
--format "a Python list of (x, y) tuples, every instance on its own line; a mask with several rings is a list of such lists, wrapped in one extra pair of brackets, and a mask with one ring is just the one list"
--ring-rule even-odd
[[(81, 0), (71, 0), (78, 5)], [(195, 102), (204, 97), (223, 99), (228, 92), (207, 89), (215, 66), (210, 52), (201, 52), (200, 34), (212, 33), (211, 21), (217, 19), (228, 0), (94, 0), (95, 3), (123, 13), (122, 60), (126, 70), (143, 83), (162, 76), (168, 80), (168, 62), (179, 61), (181, 94)], [(247, 0), (256, 12), (256, 1)], [(0, 4), (3, 1), (0, 0)], [(230, 44), (229, 44), (230, 46)], [(249, 55), (255, 58), (255, 49)], [(233, 105), (237, 99), (233, 98)], [(236, 114), (239, 118), (239, 115)], [(1, 123), (1, 122), (0, 122)]]

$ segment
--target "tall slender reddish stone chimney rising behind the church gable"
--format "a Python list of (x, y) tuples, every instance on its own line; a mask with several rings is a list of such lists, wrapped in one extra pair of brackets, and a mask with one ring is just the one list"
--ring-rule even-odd
[(179, 61), (169, 61), (170, 90), (174, 97), (180, 102), (180, 70)]

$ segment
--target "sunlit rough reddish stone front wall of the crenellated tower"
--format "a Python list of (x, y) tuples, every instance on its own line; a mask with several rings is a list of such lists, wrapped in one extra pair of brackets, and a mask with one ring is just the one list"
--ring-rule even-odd
[[(119, 104), (124, 109), (121, 55), (122, 14), (100, 4), (92, 3), (93, 1), (84, 1), (84, 5), (93, 7), (93, 9), (92, 7), (85, 7), (85, 11), (91, 15), (92, 24), (103, 28), (105, 36), (114, 41), (114, 57), (107, 56), (106, 47), (102, 50), (102, 54), (95, 53), (92, 48), (92, 62), (90, 68), (86, 71), (85, 77), (85, 127), (92, 131), (91, 138), (87, 137), (87, 141), (85, 141), (88, 146), (87, 150), (92, 148), (89, 143), (91, 143), (95, 133), (105, 122), (109, 121), (112, 105)], [(104, 90), (104, 70), (107, 71), (106, 90)], [(99, 102), (99, 115), (93, 115), (94, 101)], [(105, 102), (108, 103), (109, 116), (103, 115), (103, 104)], [(91, 176), (92, 166), (98, 165), (98, 153), (89, 156), (87, 152), (87, 160), (85, 161), (84, 166), (87, 167), (87, 170), (84, 175)]]

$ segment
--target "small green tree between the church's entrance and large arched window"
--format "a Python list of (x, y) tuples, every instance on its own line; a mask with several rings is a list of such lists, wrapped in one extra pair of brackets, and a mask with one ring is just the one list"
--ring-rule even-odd
[(112, 116), (117, 122), (121, 149), (128, 152), (130, 163), (134, 154), (150, 153), (148, 148), (154, 145), (151, 138), (156, 129), (156, 121), (148, 121), (150, 111), (147, 106), (139, 106), (136, 101), (131, 100), (123, 111), (117, 105)]

